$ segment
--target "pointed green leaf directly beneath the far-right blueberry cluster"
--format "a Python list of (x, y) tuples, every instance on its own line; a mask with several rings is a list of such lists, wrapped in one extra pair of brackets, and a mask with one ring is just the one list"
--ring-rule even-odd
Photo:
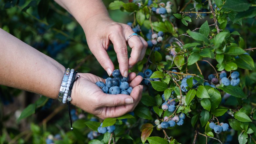
[(237, 98), (246, 98), (245, 93), (243, 92), (243, 90), (239, 87), (239, 86), (223, 86), (223, 87), (219, 87), (221, 90), (223, 90), (224, 92), (237, 97)]

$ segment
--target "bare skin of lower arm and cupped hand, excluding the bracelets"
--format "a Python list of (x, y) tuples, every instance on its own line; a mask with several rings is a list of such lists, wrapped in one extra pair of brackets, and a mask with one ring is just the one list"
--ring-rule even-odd
[[(0, 84), (57, 99), (65, 67), (0, 28)], [(133, 111), (141, 99), (141, 76), (130, 73), (129, 95), (105, 94), (95, 83), (104, 79), (78, 73), (71, 103), (100, 118), (118, 117)]]

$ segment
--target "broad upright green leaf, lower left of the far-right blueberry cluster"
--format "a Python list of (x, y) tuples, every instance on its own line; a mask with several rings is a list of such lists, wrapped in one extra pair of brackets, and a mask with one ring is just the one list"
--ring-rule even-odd
[(211, 110), (215, 110), (221, 103), (221, 93), (215, 88), (210, 88), (207, 92), (210, 96)]

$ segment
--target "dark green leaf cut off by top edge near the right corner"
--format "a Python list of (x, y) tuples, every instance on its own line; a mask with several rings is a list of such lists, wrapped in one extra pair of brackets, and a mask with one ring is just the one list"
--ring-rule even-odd
[(245, 11), (249, 9), (250, 4), (246, 0), (227, 0), (224, 8), (233, 10), (233, 11)]

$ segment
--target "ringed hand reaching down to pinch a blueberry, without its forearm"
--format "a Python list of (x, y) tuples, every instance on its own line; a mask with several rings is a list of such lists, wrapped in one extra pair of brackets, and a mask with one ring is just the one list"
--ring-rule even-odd
[(114, 22), (106, 16), (94, 15), (87, 20), (83, 28), (91, 52), (109, 76), (114, 70), (114, 64), (106, 52), (110, 41), (114, 45), (119, 69), (124, 77), (127, 77), (128, 69), (141, 61), (145, 55), (147, 42), (142, 37), (132, 36), (128, 41), (128, 45), (132, 48), (128, 60), (126, 41), (134, 31), (126, 24)]

